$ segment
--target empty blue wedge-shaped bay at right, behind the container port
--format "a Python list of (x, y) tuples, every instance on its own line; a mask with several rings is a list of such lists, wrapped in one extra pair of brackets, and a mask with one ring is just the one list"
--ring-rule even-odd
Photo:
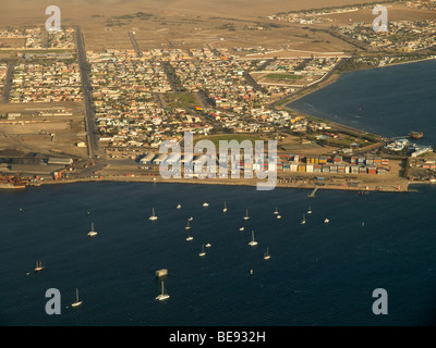
[(342, 74), (287, 107), (385, 137), (423, 132), (436, 147), (436, 60)]

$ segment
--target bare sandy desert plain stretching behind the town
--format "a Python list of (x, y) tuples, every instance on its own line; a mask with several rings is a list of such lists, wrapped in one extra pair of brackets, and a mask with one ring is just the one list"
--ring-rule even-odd
[[(349, 44), (326, 33), (313, 33), (304, 25), (272, 22), (267, 15), (319, 9), (373, 0), (59, 0), (63, 26), (80, 25), (88, 50), (132, 49), (129, 32), (135, 32), (141, 49), (160, 47), (232, 48), (264, 46), (271, 49), (341, 52)], [(45, 26), (45, 9), (50, 0), (7, 1), (1, 4), (1, 26)], [(389, 4), (390, 5), (390, 4)], [(142, 15), (136, 14), (141, 12)], [(331, 15), (335, 24), (372, 22), (370, 10)], [(389, 8), (389, 20), (435, 18), (435, 13)], [(325, 24), (330, 25), (330, 24)], [(324, 25), (324, 26), (325, 26)], [(323, 25), (320, 25), (323, 26)], [(264, 27), (259, 29), (258, 27)], [(265, 27), (267, 27), (265, 29)], [(311, 25), (314, 27), (314, 25)]]

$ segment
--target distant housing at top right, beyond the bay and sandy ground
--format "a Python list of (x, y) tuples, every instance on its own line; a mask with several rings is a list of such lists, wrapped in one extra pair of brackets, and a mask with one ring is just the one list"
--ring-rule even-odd
[(389, 21), (387, 32), (375, 32), (371, 23), (356, 22), (347, 26), (332, 26), (334, 30), (391, 52), (414, 52), (436, 44), (436, 21)]

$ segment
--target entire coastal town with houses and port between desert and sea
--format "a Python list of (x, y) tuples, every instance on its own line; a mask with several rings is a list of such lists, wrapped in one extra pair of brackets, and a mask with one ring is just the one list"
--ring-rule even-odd
[[(299, 183), (362, 189), (390, 181), (393, 184), (385, 185), (386, 189), (407, 189), (404, 182), (416, 178), (408, 177), (411, 163), (429, 170), (419, 174), (429, 182), (434, 167), (408, 159), (432, 156), (431, 146), (383, 138), (286, 108), (340, 72), (436, 57), (435, 21), (392, 21), (389, 33), (380, 35), (371, 23), (340, 24), (335, 17), (368, 9), (266, 16), (292, 25), (318, 24), (367, 54), (287, 55), (262, 46), (219, 45), (140, 49), (135, 32), (129, 32), (130, 49), (86, 47), (84, 63), (80, 60), (82, 34), (74, 27), (48, 33), (40, 27), (2, 28), (0, 52), (8, 58), (0, 60), (0, 132), (5, 150), (1, 173), (34, 185), (73, 179), (156, 181), (159, 164), (169, 158), (160, 153), (161, 145), (183, 144), (187, 132), (195, 140), (277, 140), (275, 166), (269, 170), (277, 171), (278, 184), (290, 187)], [(94, 124), (96, 130), (89, 130)], [(22, 151), (15, 157), (8, 152), (14, 146)], [(29, 147), (36, 150), (28, 151)], [(96, 149), (105, 156), (94, 154)], [(31, 156), (39, 160), (24, 160)], [(193, 161), (202, 160), (204, 154), (195, 153)], [(178, 161), (190, 164), (183, 156)], [(261, 169), (243, 160), (235, 167), (241, 173)]]

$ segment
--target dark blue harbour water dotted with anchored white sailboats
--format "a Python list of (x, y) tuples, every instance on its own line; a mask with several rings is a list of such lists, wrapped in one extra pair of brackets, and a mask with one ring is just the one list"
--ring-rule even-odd
[[(1, 191), (0, 324), (435, 324), (436, 191), (417, 188), (315, 198), (306, 189), (167, 183)], [(190, 216), (194, 240), (186, 241)], [(38, 260), (46, 268), (34, 273)], [(164, 268), (170, 298), (159, 302), (155, 271)], [(60, 315), (45, 311), (48, 288), (61, 293)], [(76, 288), (83, 303), (72, 308)], [(387, 315), (372, 311), (376, 288), (388, 293)]]

